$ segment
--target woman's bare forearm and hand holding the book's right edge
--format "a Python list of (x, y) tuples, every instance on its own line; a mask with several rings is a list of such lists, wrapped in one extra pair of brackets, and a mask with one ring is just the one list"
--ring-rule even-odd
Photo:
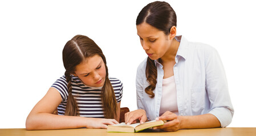
[(164, 125), (157, 126), (154, 129), (164, 131), (177, 131), (179, 129), (201, 129), (221, 127), (220, 121), (213, 114), (201, 114), (197, 116), (177, 116), (172, 112), (165, 112), (156, 120), (166, 120)]

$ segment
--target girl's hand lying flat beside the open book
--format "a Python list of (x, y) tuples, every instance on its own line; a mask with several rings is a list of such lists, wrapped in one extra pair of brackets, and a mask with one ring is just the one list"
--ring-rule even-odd
[(107, 125), (119, 124), (115, 119), (106, 118), (86, 118), (88, 129), (107, 129)]

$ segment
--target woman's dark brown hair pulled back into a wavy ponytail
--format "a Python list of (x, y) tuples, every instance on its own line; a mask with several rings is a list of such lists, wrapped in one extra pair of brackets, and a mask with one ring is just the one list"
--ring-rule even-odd
[[(173, 8), (166, 2), (152, 2), (145, 6), (137, 16), (136, 25), (148, 23), (153, 27), (163, 31), (165, 35), (169, 35), (170, 28), (177, 27), (177, 17)], [(157, 83), (157, 69), (155, 61), (148, 57), (146, 66), (146, 76), (149, 86), (145, 88), (145, 92), (155, 97), (153, 90)]]

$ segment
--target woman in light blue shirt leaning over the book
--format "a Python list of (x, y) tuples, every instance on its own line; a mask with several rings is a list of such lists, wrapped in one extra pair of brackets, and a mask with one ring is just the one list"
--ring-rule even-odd
[(155, 128), (165, 131), (229, 125), (234, 109), (216, 49), (176, 36), (176, 13), (166, 2), (145, 6), (136, 26), (148, 57), (137, 69), (138, 110), (125, 122), (167, 120)]

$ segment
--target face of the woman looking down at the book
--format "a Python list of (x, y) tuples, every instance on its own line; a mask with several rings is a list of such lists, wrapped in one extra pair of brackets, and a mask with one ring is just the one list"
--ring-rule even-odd
[(145, 22), (137, 25), (137, 35), (148, 57), (153, 60), (164, 56), (172, 42), (169, 35)]

